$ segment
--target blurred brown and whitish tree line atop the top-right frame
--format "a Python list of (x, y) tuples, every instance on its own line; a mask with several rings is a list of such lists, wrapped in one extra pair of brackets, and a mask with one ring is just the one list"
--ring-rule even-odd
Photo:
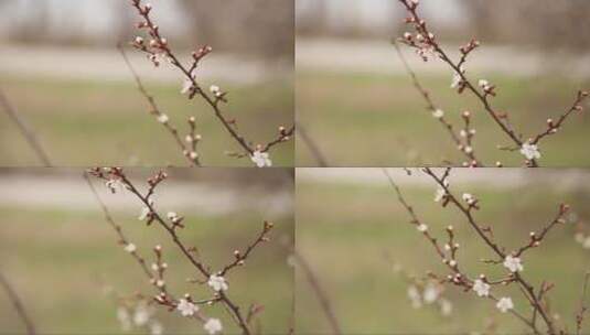
[[(364, 6), (355, 9), (356, 20), (337, 18), (343, 11), (334, 10), (334, 0), (299, 1), (303, 3), (298, 6), (297, 11), (297, 33), (300, 35), (383, 37), (383, 34), (398, 35), (405, 29), (400, 24), (405, 13), (398, 0), (390, 0), (390, 3), (356, 0), (362, 4), (360, 7)], [(452, 42), (475, 35), (487, 42), (540, 48), (590, 47), (589, 0), (422, 0), (421, 4), (426, 17), (438, 19), (436, 30), (439, 35)], [(342, 2), (342, 6), (346, 4)], [(388, 15), (390, 23), (372, 22), (367, 11), (375, 17)], [(459, 18), (443, 18), (450, 11), (458, 13)]]

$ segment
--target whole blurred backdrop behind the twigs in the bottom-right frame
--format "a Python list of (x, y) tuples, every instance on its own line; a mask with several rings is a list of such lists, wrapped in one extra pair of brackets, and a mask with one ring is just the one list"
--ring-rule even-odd
[[(464, 218), (433, 202), (437, 185), (429, 176), (418, 170), (410, 176), (401, 169), (388, 171), (435, 237), (446, 240), (444, 229), (453, 225), (461, 246), (458, 261), (469, 275), (504, 273), (502, 267), (480, 261), (493, 255)], [(469, 192), (480, 199), (476, 219), (490, 225), (507, 249), (526, 244), (529, 231), (545, 227), (561, 203), (571, 205), (575, 214), (567, 217), (568, 223), (523, 257), (523, 274), (532, 283), (555, 283), (549, 293), (551, 311), (559, 313), (557, 323), (570, 331), (589, 270), (588, 246), (576, 241), (579, 229), (586, 236), (590, 229), (589, 177), (587, 170), (455, 169), (449, 180), (453, 193)], [(452, 305), (450, 315), (442, 315), (433, 304), (412, 307), (409, 284), (396, 268), (418, 278), (427, 271), (440, 275), (448, 271), (432, 246), (409, 224), (380, 169), (298, 169), (296, 204), (297, 249), (314, 270), (344, 334), (528, 333), (492, 302), (453, 287), (443, 291)], [(331, 333), (315, 293), (299, 270), (296, 289), (298, 331)], [(516, 288), (494, 290), (511, 295), (515, 309), (528, 314)]]

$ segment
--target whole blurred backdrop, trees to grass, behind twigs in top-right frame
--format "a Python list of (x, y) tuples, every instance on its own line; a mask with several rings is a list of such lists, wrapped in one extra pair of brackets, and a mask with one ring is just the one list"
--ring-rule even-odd
[[(461, 162), (444, 130), (425, 111), (390, 44), (408, 29), (399, 1), (298, 0), (296, 7), (298, 121), (331, 165)], [(472, 37), (482, 42), (470, 55), (468, 75), (498, 86), (494, 105), (511, 112), (525, 136), (541, 131), (548, 117), (565, 111), (576, 91), (590, 86), (590, 37), (580, 34), (590, 29), (583, 19), (590, 14), (588, 1), (422, 0), (420, 12), (454, 58), (459, 45)], [(452, 121), (464, 109), (475, 111), (474, 145), (484, 160), (519, 165), (517, 154), (495, 149), (506, 141), (486, 116), (479, 116), (479, 105), (449, 87), (447, 66), (404, 52)], [(582, 154), (590, 117), (573, 119), (543, 143), (541, 164), (590, 164)], [(299, 165), (318, 164), (301, 139), (297, 145)]]

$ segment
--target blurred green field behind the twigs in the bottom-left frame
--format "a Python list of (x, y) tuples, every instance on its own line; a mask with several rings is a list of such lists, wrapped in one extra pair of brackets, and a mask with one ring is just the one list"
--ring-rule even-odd
[[(116, 305), (104, 295), (104, 284), (126, 295), (151, 294), (138, 264), (116, 245), (116, 236), (99, 212), (0, 207), (0, 263), (4, 274), (22, 295), (37, 329), (43, 334), (119, 334)], [(190, 284), (194, 271), (159, 227), (137, 220), (136, 213), (115, 213), (128, 237), (149, 261), (151, 248), (161, 244), (169, 263), (168, 280), (176, 296), (191, 292), (208, 298), (208, 289)], [(233, 260), (235, 248), (245, 248), (261, 228), (262, 218), (247, 213), (218, 217), (187, 215), (182, 238), (195, 245), (213, 268)], [(273, 236), (293, 234), (292, 217), (276, 220)], [(262, 333), (286, 333), (291, 322), (292, 275), (287, 252), (278, 244), (267, 244), (253, 253), (246, 267), (228, 275), (228, 295), (247, 309), (265, 306), (260, 314)], [(22, 333), (23, 327), (4, 294), (0, 294), (0, 333)], [(204, 307), (222, 318), (225, 334), (238, 331), (222, 306)], [(164, 334), (200, 334), (194, 320), (159, 309)], [(135, 331), (133, 333), (137, 333)]]

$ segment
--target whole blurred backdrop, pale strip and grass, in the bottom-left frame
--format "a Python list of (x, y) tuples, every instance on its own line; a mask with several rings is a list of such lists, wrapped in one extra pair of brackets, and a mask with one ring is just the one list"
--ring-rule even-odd
[[(245, 310), (256, 303), (261, 333), (286, 333), (291, 324), (293, 270), (288, 251), (294, 235), (293, 183), (287, 170), (169, 169), (170, 177), (158, 187), (157, 208), (185, 216), (181, 238), (199, 249), (213, 269), (234, 260), (235, 249), (247, 247), (262, 221), (275, 223), (271, 242), (256, 249), (244, 268), (227, 280), (229, 296)], [(136, 185), (144, 185), (154, 171), (128, 169)], [(194, 278), (170, 238), (158, 226), (138, 220), (141, 204), (124, 193), (110, 194), (93, 180), (100, 197), (128, 239), (149, 263), (160, 244), (169, 263), (167, 282), (181, 296), (190, 292), (205, 299), (210, 290), (186, 282)], [(39, 333), (124, 334), (117, 304), (105, 288), (131, 296), (153, 294), (135, 260), (117, 245), (117, 236), (82, 179), (82, 170), (0, 170), (0, 271), (21, 295)], [(222, 306), (205, 307), (219, 317), (225, 332), (237, 332)], [(164, 334), (195, 334), (202, 326), (158, 309)], [(0, 292), (0, 333), (20, 334), (24, 327), (4, 292)], [(131, 333), (141, 333), (133, 328)]]

